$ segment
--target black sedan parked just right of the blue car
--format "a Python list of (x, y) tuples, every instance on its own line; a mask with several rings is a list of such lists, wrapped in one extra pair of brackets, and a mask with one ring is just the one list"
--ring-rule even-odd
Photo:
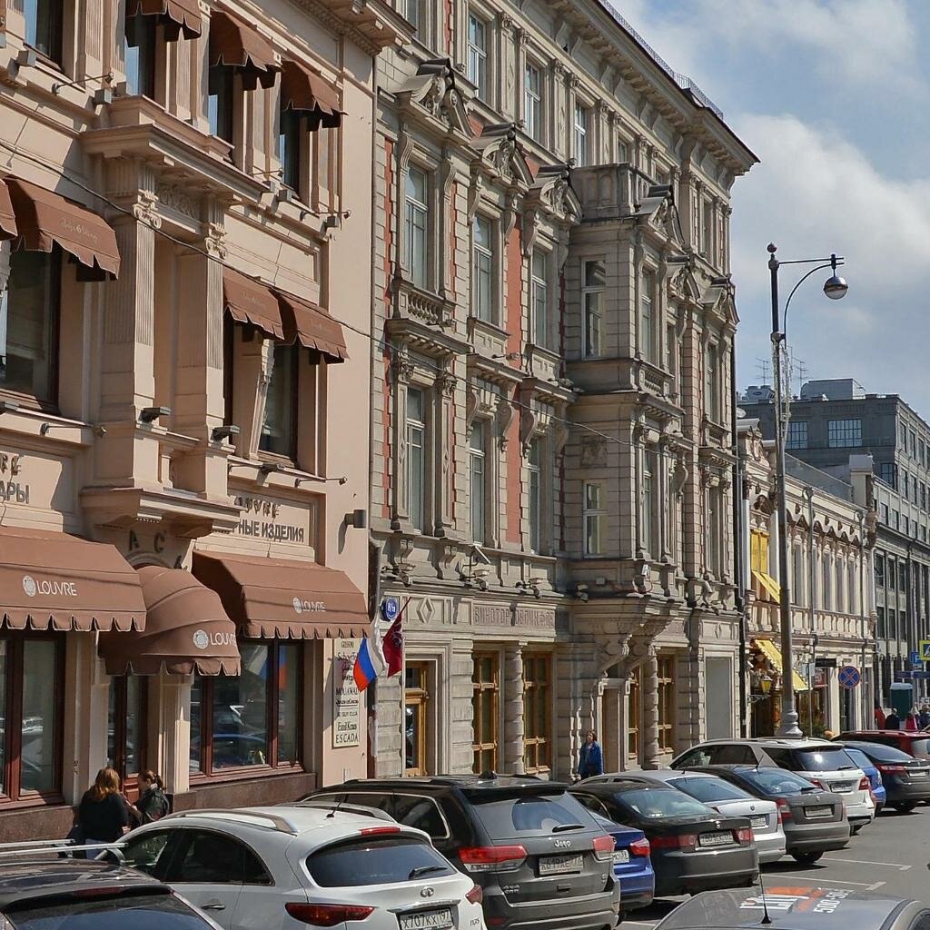
[(759, 874), (746, 817), (718, 814), (671, 785), (626, 775), (586, 778), (572, 793), (602, 817), (643, 830), (657, 897), (748, 886)]

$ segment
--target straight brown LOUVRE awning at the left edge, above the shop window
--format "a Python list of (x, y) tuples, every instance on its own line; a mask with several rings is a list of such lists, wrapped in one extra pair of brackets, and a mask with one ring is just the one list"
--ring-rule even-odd
[(145, 627), (139, 577), (113, 546), (50, 530), (0, 527), (0, 627)]

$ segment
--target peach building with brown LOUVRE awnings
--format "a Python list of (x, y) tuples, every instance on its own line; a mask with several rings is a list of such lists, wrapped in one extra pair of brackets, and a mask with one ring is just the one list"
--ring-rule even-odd
[(359, 257), (408, 36), (379, 0), (0, 5), (5, 839), (108, 761), (176, 807), (364, 774)]

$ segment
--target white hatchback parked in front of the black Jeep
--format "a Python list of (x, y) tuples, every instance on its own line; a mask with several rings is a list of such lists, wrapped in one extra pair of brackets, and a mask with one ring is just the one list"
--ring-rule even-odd
[(119, 848), (223, 930), (485, 930), (481, 888), (426, 833), (357, 805), (184, 811)]

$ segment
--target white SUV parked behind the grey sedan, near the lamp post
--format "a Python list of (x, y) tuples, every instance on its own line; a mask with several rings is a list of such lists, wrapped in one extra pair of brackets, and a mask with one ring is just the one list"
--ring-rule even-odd
[(875, 818), (869, 779), (828, 739), (712, 739), (683, 752), (671, 768), (716, 764), (777, 765), (806, 778), (817, 788), (843, 795), (850, 829), (857, 833)]

